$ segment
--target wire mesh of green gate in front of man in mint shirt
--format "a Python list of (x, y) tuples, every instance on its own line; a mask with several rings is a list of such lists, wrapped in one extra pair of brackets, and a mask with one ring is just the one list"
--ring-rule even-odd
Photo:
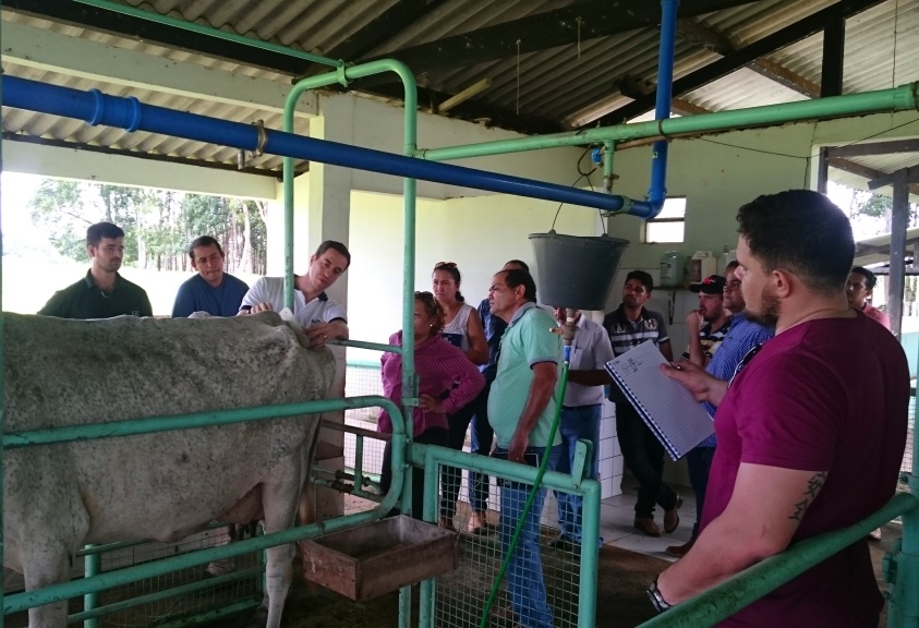
[[(470, 483), (480, 488), (484, 485), (475, 471), (464, 469), (462, 474), (464, 488)], [(442, 466), (442, 482), (443, 478)], [(558, 520), (558, 497), (568, 502), (571, 495), (549, 488), (537, 492), (508, 569), (498, 581), (531, 486), (495, 478), (488, 479), (487, 486), (487, 496), (460, 493), (450, 521), (459, 532), (459, 568), (436, 580), (434, 626), (479, 626), (495, 588), (488, 626), (578, 626), (580, 546), (559, 541)], [(463, 497), (480, 505), (475, 514)], [(487, 505), (484, 510), (483, 502)], [(446, 506), (442, 503), (442, 514)], [(596, 543), (591, 545), (594, 551), (598, 548)]]

